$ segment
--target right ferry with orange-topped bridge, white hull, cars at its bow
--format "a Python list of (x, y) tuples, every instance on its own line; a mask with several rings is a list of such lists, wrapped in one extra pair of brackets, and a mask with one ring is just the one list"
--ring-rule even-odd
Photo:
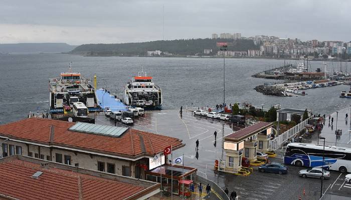
[(123, 101), (132, 107), (161, 109), (162, 91), (152, 82), (151, 76), (147, 76), (146, 72), (141, 71), (124, 86)]

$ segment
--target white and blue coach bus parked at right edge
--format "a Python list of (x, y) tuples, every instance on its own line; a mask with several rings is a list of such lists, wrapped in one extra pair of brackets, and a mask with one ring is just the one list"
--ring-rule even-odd
[(323, 145), (293, 142), (286, 146), (284, 163), (351, 172), (351, 148), (325, 145), (323, 163)]

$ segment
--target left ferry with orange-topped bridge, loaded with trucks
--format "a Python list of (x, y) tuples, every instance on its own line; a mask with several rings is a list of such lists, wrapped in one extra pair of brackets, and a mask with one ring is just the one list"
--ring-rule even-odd
[(90, 78), (84, 78), (78, 72), (62, 72), (60, 77), (49, 79), (49, 106), (51, 113), (64, 112), (72, 108), (74, 102), (83, 102), (89, 110), (97, 109), (95, 88)]

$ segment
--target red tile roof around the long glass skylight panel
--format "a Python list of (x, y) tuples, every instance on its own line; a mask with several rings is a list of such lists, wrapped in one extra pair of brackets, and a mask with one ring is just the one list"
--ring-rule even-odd
[[(69, 130), (74, 124), (75, 122), (33, 117), (0, 125), (0, 136), (134, 158), (144, 154), (151, 156), (168, 145), (174, 149), (184, 146), (178, 138), (132, 128), (120, 137)], [(50, 141), (52, 125), (54, 134)]]

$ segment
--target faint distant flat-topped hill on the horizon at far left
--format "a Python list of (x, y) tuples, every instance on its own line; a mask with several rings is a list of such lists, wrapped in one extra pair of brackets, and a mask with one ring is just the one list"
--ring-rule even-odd
[(75, 47), (67, 43), (0, 43), (0, 53), (60, 53)]

